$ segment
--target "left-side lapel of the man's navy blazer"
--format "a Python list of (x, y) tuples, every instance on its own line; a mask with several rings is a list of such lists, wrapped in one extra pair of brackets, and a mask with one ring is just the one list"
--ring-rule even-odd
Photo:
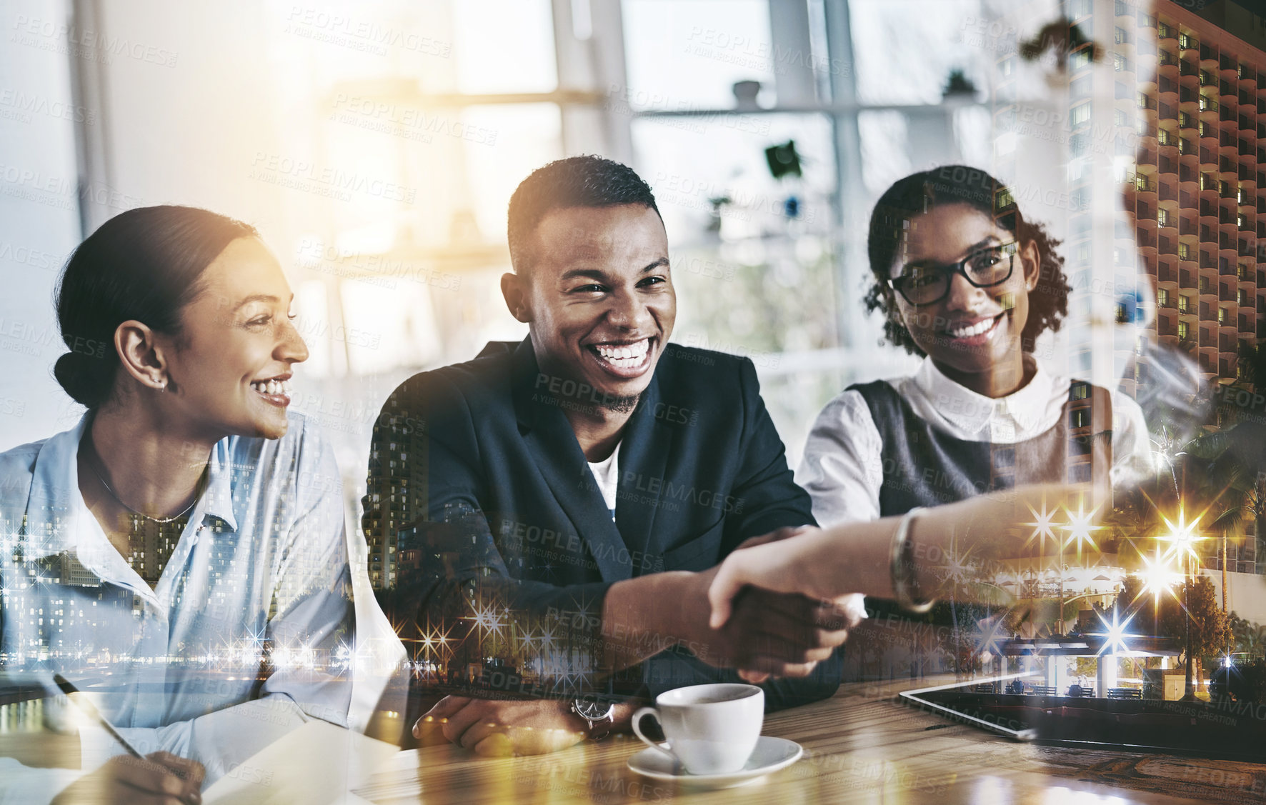
[[(514, 409), (523, 442), (558, 505), (589, 547), (603, 581), (630, 578), (633, 568), (624, 539), (611, 521), (603, 492), (594, 482), (576, 434), (558, 406), (557, 395), (549, 392), (547, 382), (538, 384), (538, 376), (532, 342), (524, 339), (514, 353), (513, 378)], [(622, 463), (623, 452), (622, 447)]]

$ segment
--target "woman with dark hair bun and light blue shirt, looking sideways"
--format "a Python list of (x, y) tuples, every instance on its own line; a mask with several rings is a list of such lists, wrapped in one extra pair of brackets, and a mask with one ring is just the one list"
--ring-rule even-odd
[[(66, 265), (53, 372), (87, 411), (0, 454), (0, 667), (51, 694), (54, 675), (104, 682), (103, 715), (148, 756), (101, 730), (4, 747), (65, 749), (90, 772), (67, 801), (196, 801), (204, 773), (348, 720), (343, 500), (287, 411), (308, 358), (291, 300), (252, 227), (186, 206), (123, 213)], [(0, 778), (0, 799), (47, 801), (38, 773)]]

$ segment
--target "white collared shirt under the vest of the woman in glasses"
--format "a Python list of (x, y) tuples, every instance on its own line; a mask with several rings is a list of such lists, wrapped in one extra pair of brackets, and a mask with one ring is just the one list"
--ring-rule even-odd
[[(887, 380), (914, 413), (957, 439), (1014, 444), (1053, 428), (1069, 400), (1069, 378), (1041, 363), (1032, 380), (1005, 397), (986, 397), (962, 386), (924, 358), (908, 377)], [(1113, 408), (1110, 471), (1114, 486), (1137, 482), (1155, 470), (1143, 411), (1132, 399), (1109, 390)], [(796, 484), (813, 497), (822, 527), (875, 520), (884, 484), (882, 440), (858, 391), (844, 391), (827, 404), (809, 432)]]

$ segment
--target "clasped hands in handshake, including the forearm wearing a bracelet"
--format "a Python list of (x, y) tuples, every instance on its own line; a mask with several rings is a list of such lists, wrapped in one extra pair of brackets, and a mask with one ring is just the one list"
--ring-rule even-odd
[(706, 586), (706, 624), (687, 594), (677, 628), (699, 642), (686, 647), (700, 659), (749, 682), (808, 676), (866, 616), (866, 596), (915, 613), (951, 595), (1012, 605), (999, 559), (1032, 547), (1034, 513), (1077, 511), (1095, 529), (1109, 508), (1098, 486), (1034, 485), (879, 520), (779, 529), (695, 575), (686, 589)]

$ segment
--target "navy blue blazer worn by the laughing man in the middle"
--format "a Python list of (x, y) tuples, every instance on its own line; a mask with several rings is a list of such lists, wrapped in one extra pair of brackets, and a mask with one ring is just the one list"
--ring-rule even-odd
[[(481, 659), (537, 628), (596, 652), (614, 582), (706, 570), (749, 537), (814, 523), (749, 359), (665, 348), (620, 440), (614, 521), (563, 415), (595, 401), (543, 375), (530, 339), (489, 344), (391, 394), (373, 428), (362, 523), (392, 620), (468, 625), (494, 590), (517, 629), (485, 624)], [(655, 695), (737, 675), (675, 647), (620, 678), (622, 692)], [(832, 659), (766, 685), (767, 705), (822, 699), (838, 683)]]

